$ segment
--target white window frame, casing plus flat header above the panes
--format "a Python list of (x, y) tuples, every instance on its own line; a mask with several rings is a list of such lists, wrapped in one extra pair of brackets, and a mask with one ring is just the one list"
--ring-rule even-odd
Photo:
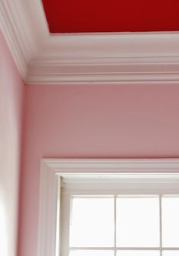
[[(95, 194), (96, 181), (108, 193), (179, 194), (179, 159), (42, 159), (39, 197), (38, 256), (60, 254), (61, 178), (87, 183)], [(80, 182), (79, 182), (80, 181)], [(108, 184), (112, 184), (108, 186)]]

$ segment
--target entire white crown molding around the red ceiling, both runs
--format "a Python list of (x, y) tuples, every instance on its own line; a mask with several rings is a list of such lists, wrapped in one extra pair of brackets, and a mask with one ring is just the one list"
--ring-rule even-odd
[(41, 0), (0, 0), (26, 84), (179, 82), (179, 33), (50, 34)]

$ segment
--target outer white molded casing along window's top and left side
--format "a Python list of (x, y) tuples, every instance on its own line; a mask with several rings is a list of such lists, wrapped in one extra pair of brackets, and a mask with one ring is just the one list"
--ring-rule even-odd
[[(69, 174), (108, 174), (120, 177), (124, 175), (125, 182), (127, 174), (141, 176), (146, 181), (150, 174), (153, 178), (156, 175), (157, 182), (161, 184), (167, 184), (167, 180), (170, 185), (179, 188), (179, 159), (43, 159), (40, 178), (38, 256), (59, 255), (56, 242), (61, 176)], [(128, 179), (131, 179), (130, 175)]]

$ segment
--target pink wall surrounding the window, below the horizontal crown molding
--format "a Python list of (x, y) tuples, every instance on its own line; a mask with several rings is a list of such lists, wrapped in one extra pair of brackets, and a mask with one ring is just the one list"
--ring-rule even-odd
[(26, 87), (19, 256), (36, 256), (42, 157), (178, 157), (179, 84)]

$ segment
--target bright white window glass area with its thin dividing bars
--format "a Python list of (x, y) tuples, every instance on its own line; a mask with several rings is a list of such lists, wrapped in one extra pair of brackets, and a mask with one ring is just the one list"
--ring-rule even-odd
[(62, 215), (69, 216), (61, 234), (65, 256), (179, 255), (177, 195), (71, 194), (64, 204), (67, 198), (69, 209)]

